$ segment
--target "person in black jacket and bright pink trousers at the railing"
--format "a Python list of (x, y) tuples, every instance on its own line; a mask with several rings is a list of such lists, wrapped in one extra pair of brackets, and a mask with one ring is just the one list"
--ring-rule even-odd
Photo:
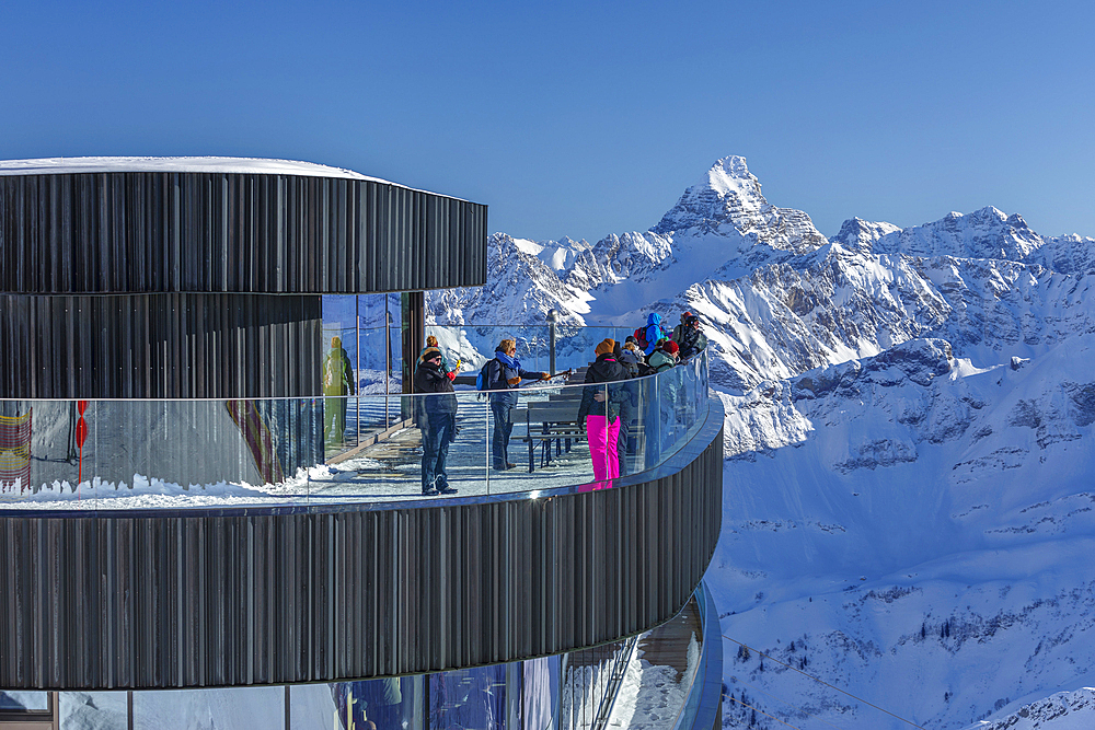
[(598, 482), (620, 476), (620, 415), (626, 393), (622, 385), (600, 385), (627, 380), (631, 374), (615, 358), (614, 339), (606, 339), (593, 352), (597, 360), (586, 370), (586, 387), (578, 406), (578, 427), (586, 429), (593, 478)]

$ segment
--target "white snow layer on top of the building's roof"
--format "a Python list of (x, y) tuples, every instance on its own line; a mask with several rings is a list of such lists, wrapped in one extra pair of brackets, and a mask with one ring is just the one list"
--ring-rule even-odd
[[(399, 185), (379, 177), (369, 177), (353, 170), (331, 167), (296, 160), (262, 158), (42, 158), (38, 160), (0, 160), (0, 176), (65, 175), (103, 172), (196, 172), (265, 175), (304, 175), (364, 179), (384, 185)], [(422, 190), (428, 193), (428, 190)], [(438, 194), (431, 194), (438, 195)], [(451, 197), (451, 196), (446, 196)]]

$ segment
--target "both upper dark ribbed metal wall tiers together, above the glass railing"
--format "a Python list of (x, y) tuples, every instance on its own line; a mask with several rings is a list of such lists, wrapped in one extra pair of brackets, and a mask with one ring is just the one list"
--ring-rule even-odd
[(0, 174), (0, 397), (315, 396), (321, 294), (485, 281), (486, 206), (381, 181)]

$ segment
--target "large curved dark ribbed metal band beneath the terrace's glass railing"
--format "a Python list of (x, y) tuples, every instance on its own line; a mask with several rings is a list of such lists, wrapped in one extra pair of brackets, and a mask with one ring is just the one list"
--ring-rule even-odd
[(722, 421), (609, 489), (0, 517), (0, 686), (362, 679), (598, 645), (672, 617), (718, 540)]

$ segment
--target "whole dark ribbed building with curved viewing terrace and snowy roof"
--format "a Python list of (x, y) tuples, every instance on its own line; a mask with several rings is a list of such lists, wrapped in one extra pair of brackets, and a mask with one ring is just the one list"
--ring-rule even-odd
[[(399, 727), (595, 727), (576, 714), (611, 699), (629, 637), (687, 605), (710, 631), (693, 593), (719, 531), (722, 407), (699, 364), (657, 457), (612, 484), (532, 473), (563, 440), (531, 426), (509, 487), (474, 460), (447, 499), (315, 476), (364, 444), (332, 448), (349, 398), (324, 393), (323, 297), (397, 292), (410, 363), (422, 292), (485, 278), (485, 206), (348, 171), (0, 163), (0, 727), (240, 708), (365, 727), (367, 706)], [(387, 391), (384, 433), (410, 397)], [(474, 454), (489, 421), (466, 395)], [(658, 397), (652, 380), (637, 407)], [(717, 722), (717, 644), (681, 721)]]

